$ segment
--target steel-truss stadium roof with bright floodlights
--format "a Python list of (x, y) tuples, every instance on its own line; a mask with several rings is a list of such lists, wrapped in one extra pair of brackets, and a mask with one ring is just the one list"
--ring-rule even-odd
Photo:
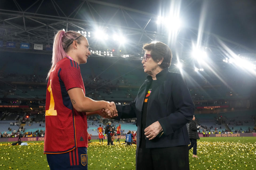
[[(187, 8), (194, 1), (185, 1)], [(174, 56), (186, 60), (191, 55), (193, 44), (214, 54), (217, 61), (222, 61), (231, 52), (246, 54), (255, 59), (255, 49), (234, 42), (202, 28), (184, 27), (170, 33), (163, 25), (156, 24), (159, 16), (145, 10), (138, 10), (119, 4), (99, 0), (36, 0), (21, 2), (2, 1), (0, 8), (0, 35), (3, 42), (52, 45), (54, 34), (61, 29), (90, 32), (87, 36), (92, 50), (112, 50), (113, 56), (130, 54), (133, 59), (140, 59), (144, 43), (162, 41), (171, 46)], [(180, 4), (178, 5), (180, 8)], [(4, 8), (3, 8), (4, 7)], [(183, 8), (183, 9), (184, 9)], [(173, 23), (172, 20), (167, 22)], [(166, 23), (163, 23), (166, 24)], [(175, 24), (175, 23), (174, 23)], [(173, 27), (173, 25), (169, 25)], [(101, 30), (102, 37), (97, 30)], [(113, 36), (125, 37), (128, 43), (114, 41)], [(109, 37), (105, 37), (109, 35)], [(199, 42), (199, 43), (198, 43)], [(1, 51), (24, 52), (23, 49), (0, 48)], [(26, 50), (29, 53), (51, 52)], [(120, 53), (119, 53), (120, 52)], [(95, 54), (96, 55), (96, 54)], [(216, 57), (217, 56), (217, 57)], [(179, 60), (177, 59), (177, 60)]]

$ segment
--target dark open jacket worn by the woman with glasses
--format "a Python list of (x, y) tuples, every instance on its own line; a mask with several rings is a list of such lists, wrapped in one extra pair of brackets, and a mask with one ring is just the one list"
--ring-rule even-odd
[[(179, 73), (169, 72), (163, 69), (156, 75), (151, 94), (148, 100), (146, 127), (159, 121), (164, 134), (160, 138), (146, 140), (146, 148), (162, 148), (189, 145), (189, 135), (186, 123), (192, 120), (194, 105), (187, 88), (186, 80)], [(153, 81), (147, 76), (138, 92), (137, 97), (129, 105), (116, 105), (118, 117), (137, 118), (137, 147), (141, 141), (142, 105), (147, 87)]]

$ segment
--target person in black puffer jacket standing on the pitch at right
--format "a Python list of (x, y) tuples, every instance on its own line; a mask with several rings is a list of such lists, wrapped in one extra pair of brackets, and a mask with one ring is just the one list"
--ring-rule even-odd
[(187, 124), (187, 131), (189, 132), (189, 140), (190, 140), (190, 145), (189, 145), (189, 150), (193, 147), (193, 158), (198, 158), (197, 156), (197, 139), (199, 138), (199, 135), (197, 133), (197, 129), (200, 126), (196, 126), (195, 123), (195, 116), (193, 116), (193, 119), (189, 121)]

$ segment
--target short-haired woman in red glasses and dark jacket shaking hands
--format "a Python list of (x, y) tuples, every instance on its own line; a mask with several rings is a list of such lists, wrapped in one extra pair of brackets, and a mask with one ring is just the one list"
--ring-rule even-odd
[(144, 45), (143, 81), (136, 99), (116, 105), (118, 117), (137, 118), (136, 169), (189, 169), (186, 123), (194, 105), (181, 74), (171, 73), (171, 50), (161, 42)]

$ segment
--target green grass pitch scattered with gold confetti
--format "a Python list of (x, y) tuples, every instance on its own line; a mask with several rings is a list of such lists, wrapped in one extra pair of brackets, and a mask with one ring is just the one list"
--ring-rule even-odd
[[(136, 146), (107, 146), (92, 140), (88, 147), (88, 169), (135, 169)], [(124, 139), (121, 143), (123, 143)], [(9, 143), (10, 144), (10, 143)], [(0, 169), (49, 170), (42, 142), (28, 146), (0, 143)], [(189, 152), (190, 170), (256, 169), (255, 137), (205, 137), (198, 140), (197, 155)]]

